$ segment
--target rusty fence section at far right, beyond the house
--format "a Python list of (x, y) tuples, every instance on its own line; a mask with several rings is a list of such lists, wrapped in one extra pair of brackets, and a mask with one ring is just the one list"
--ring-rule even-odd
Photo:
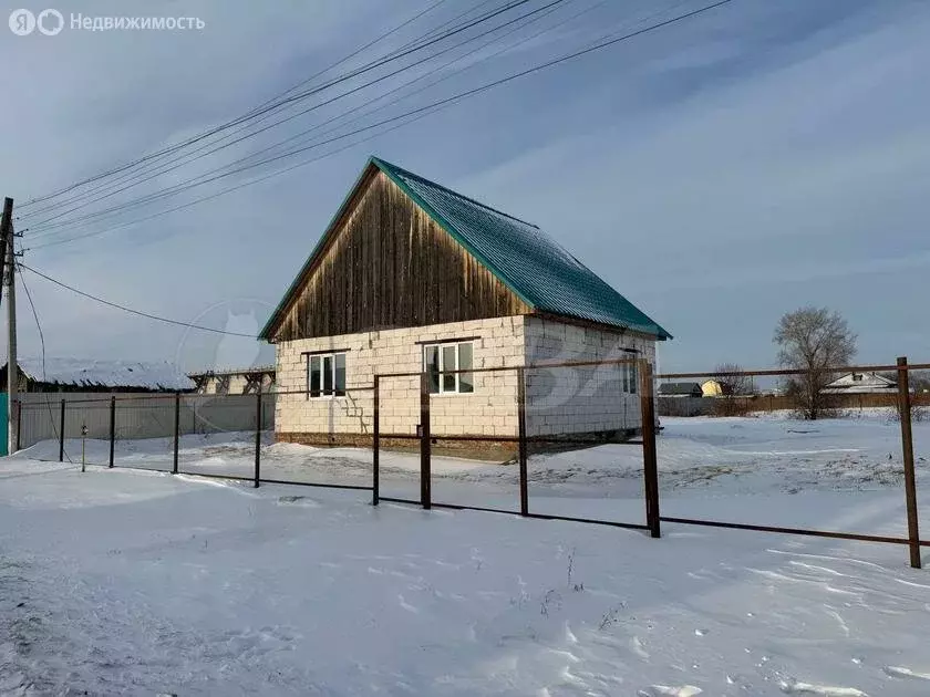
[[(896, 365), (820, 367), (812, 378), (896, 371), (897, 400), (891, 402), (889, 395), (869, 395), (872, 405), (886, 406), (884, 413), (844, 408), (860, 404), (865, 409), (866, 395), (843, 394), (829, 395), (822, 405), (826, 418), (816, 420), (800, 420), (790, 413), (735, 425), (716, 419), (665, 419), (663, 439), (682, 438), (703, 448), (693, 461), (680, 456), (673, 471), (660, 472), (663, 486), (701, 485), (709, 496), (666, 496), (661, 520), (909, 545), (911, 565), (919, 566), (919, 548), (930, 542), (920, 541), (918, 534), (914, 480), (920, 472), (914, 471), (909, 409), (918, 399), (910, 393), (908, 372), (928, 367), (909, 366), (906, 358), (899, 358)], [(711, 375), (659, 377), (694, 379)], [(808, 373), (775, 368), (728, 375), (794, 376), (803, 381)], [(786, 495), (794, 500), (788, 503)]]

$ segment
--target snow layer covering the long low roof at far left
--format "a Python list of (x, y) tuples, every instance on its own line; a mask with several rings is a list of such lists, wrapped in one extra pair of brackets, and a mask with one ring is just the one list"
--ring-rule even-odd
[(43, 383), (86, 387), (141, 387), (144, 389), (193, 389), (194, 382), (168, 362), (100, 361), (96, 358), (19, 358), (20, 370)]

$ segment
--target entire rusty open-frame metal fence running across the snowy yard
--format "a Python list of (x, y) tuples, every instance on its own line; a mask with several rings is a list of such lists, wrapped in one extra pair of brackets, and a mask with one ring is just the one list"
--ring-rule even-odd
[[(637, 370), (637, 393), (639, 402), (640, 435), (638, 439), (629, 439), (622, 443), (624, 448), (636, 448), (641, 451), (642, 461), (642, 503), (643, 517), (639, 520), (616, 520), (595, 516), (579, 516), (564, 512), (549, 512), (537, 510), (530, 496), (530, 449), (542, 446), (595, 446), (601, 441), (592, 441), (587, 437), (571, 437), (552, 435), (535, 435), (527, 428), (527, 375), (533, 371), (552, 368), (586, 368), (586, 367), (612, 367), (636, 366)], [(58, 452), (41, 454), (39, 459), (65, 459), (74, 461), (75, 439), (93, 438), (105, 443), (106, 449), (94, 451), (95, 459), (87, 460), (106, 468), (113, 467), (143, 467), (145, 469), (158, 469), (172, 474), (189, 474), (199, 477), (211, 477), (218, 479), (235, 480), (259, 487), (262, 483), (296, 485), (308, 487), (321, 487), (331, 489), (344, 489), (350, 491), (371, 492), (371, 502), (378, 506), (382, 501), (390, 501), (401, 504), (415, 504), (424, 509), (445, 508), (453, 510), (475, 510), (495, 513), (519, 514), (529, 519), (565, 520), (580, 523), (592, 523), (612, 526), (648, 532), (653, 538), (661, 535), (661, 523), (674, 523), (685, 526), (715, 527), (736, 530), (751, 530), (756, 532), (774, 532), (796, 535), (810, 535), (820, 538), (833, 538), (841, 540), (857, 540), (867, 542), (880, 542), (898, 545), (907, 545), (910, 552), (910, 563), (914, 568), (921, 565), (921, 547), (930, 547), (930, 541), (921, 540), (919, 532), (919, 514), (917, 507), (917, 479), (914, 472), (913, 436), (911, 428), (911, 403), (912, 394), (909, 388), (909, 372), (914, 370), (928, 370), (930, 364), (909, 365), (907, 358), (901, 357), (895, 365), (865, 365), (865, 366), (839, 366), (830, 367), (830, 373), (846, 372), (875, 372), (895, 371), (898, 375), (898, 409), (900, 413), (900, 439), (903, 465), (903, 493), (907, 508), (907, 537), (887, 534), (866, 534), (861, 532), (849, 532), (843, 530), (818, 530), (803, 527), (782, 527), (771, 524), (757, 524), (753, 521), (726, 521), (711, 518), (691, 516), (663, 516), (660, 511), (660, 455), (657, 447), (657, 416), (655, 416), (655, 383), (657, 379), (685, 379), (698, 378), (709, 375), (721, 377), (720, 373), (665, 373), (653, 374), (652, 365), (643, 358), (620, 358), (610, 361), (576, 361), (561, 363), (544, 363), (524, 366), (498, 366), (498, 367), (474, 367), (462, 371), (444, 371), (443, 373), (510, 373), (516, 375), (516, 428), (513, 435), (484, 435), (484, 434), (440, 434), (434, 433), (432, 407), (435, 396), (431, 394), (430, 375), (425, 372), (417, 373), (390, 373), (373, 376), (371, 385), (361, 385), (344, 389), (345, 396), (349, 393), (358, 395), (356, 400), (361, 404), (364, 399), (364, 409), (371, 408), (371, 431), (361, 434), (354, 440), (355, 448), (368, 451), (370, 448), (370, 464), (364, 458), (353, 460), (353, 478), (347, 479), (341, 476), (342, 467), (348, 460), (331, 458), (329, 455), (321, 455), (329, 464), (329, 475), (319, 477), (319, 471), (302, 469), (300, 467), (290, 470), (271, 470), (270, 476), (262, 472), (262, 452), (273, 447), (271, 425), (275, 418), (275, 400), (281, 399), (304, 399), (308, 395), (304, 391), (277, 392), (264, 395), (242, 395), (237, 397), (234, 405), (229, 397), (218, 398), (215, 395), (192, 395), (192, 394), (167, 394), (145, 395), (137, 397), (106, 396), (99, 398), (61, 400), (55, 404), (51, 399), (39, 400), (35, 404), (24, 404), (22, 400), (14, 408), (20, 414), (30, 409), (41, 409), (43, 418), (50, 419), (55, 425), (58, 436)], [(805, 371), (793, 370), (761, 370), (740, 371), (732, 376), (798, 376)], [(392, 395), (403, 392), (409, 397), (412, 391), (418, 393), (418, 408), (407, 408), (400, 417), (385, 417), (385, 405), (394, 398)], [(145, 405), (149, 409), (145, 431), (147, 436), (164, 441), (164, 458), (154, 464), (152, 461), (140, 465), (133, 457), (132, 451), (120, 451), (117, 457), (117, 443), (121, 441), (118, 424), (121, 418), (128, 418), (131, 409)], [(213, 405), (213, 406), (211, 406)], [(159, 412), (157, 417), (151, 413), (155, 407)], [(235, 407), (235, 408), (234, 408)], [(361, 408), (361, 407), (360, 407)], [(90, 410), (89, 410), (90, 409)], [(73, 414), (83, 415), (75, 420)], [(246, 414), (248, 413), (248, 416)], [(93, 414), (93, 418), (87, 415)], [(122, 415), (122, 416), (121, 416)], [(225, 415), (225, 416), (223, 416)], [(79, 425), (79, 420), (82, 420)], [(226, 420), (223, 420), (226, 419)], [(23, 419), (20, 419), (23, 423)], [(385, 430), (384, 424), (390, 424)], [(90, 426), (90, 427), (89, 427)], [(102, 433), (105, 431), (105, 433)], [(185, 460), (183, 448), (183, 436), (186, 434), (207, 434), (217, 437), (220, 434), (229, 434), (224, 441), (217, 440), (217, 460), (228, 462), (228, 467), (210, 469), (202, 462), (203, 454), (194, 466)], [(124, 434), (123, 440), (133, 440), (133, 434)], [(250, 444), (249, 444), (250, 440)], [(518, 489), (513, 495), (513, 508), (495, 506), (493, 502), (484, 504), (465, 503), (461, 501), (440, 500), (433, 492), (433, 447), (441, 447), (445, 441), (458, 443), (483, 443), (494, 440), (509, 444), (515, 449), (516, 465), (518, 471)], [(70, 444), (70, 445), (69, 445)], [(245, 444), (245, 445), (244, 445)], [(614, 445), (619, 445), (613, 441)], [(321, 446), (328, 445), (321, 443)], [(66, 448), (70, 448), (68, 449)], [(414, 448), (418, 452), (418, 498), (407, 495), (394, 495), (388, 492), (385, 496), (383, 485), (385, 481), (382, 468), (385, 451), (397, 447)], [(226, 448), (226, 450), (224, 450)], [(639, 450), (641, 448), (641, 450)], [(322, 452), (322, 450), (320, 450)], [(58, 455), (54, 458), (54, 455)], [(83, 455), (83, 447), (82, 447)], [(356, 454), (358, 455), (358, 454)], [(75, 457), (72, 457), (75, 456)], [(221, 457), (220, 457), (221, 456)], [(224, 459), (226, 458), (226, 459)], [(328, 459), (327, 459), (328, 458)]]

